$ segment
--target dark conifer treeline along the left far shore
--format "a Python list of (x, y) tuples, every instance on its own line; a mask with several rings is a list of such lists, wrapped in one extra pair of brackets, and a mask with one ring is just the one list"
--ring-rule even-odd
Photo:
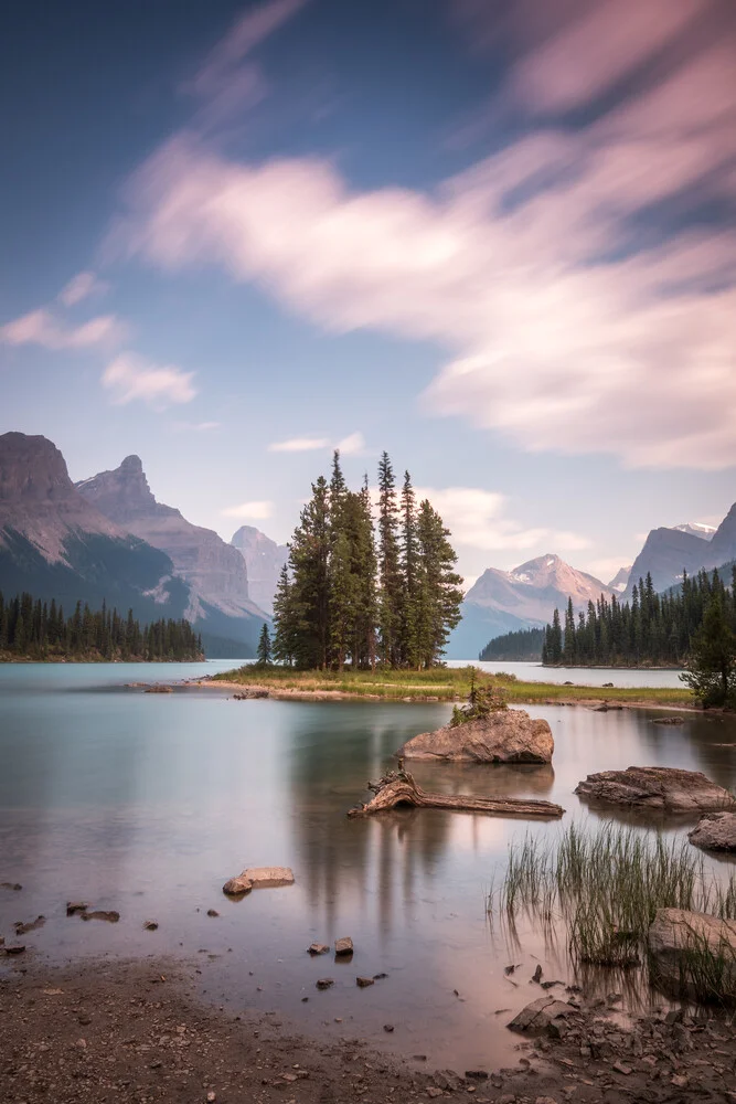
[(203, 659), (202, 640), (186, 620), (143, 625), (117, 609), (93, 612), (77, 602), (64, 614), (54, 598), (41, 602), (31, 594), (6, 599), (0, 592), (0, 658), (87, 660)]

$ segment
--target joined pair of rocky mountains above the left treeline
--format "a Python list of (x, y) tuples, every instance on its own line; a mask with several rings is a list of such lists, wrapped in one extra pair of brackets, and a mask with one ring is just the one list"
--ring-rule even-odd
[(243, 556), (157, 502), (138, 457), (75, 486), (55, 445), (22, 433), (0, 436), (0, 590), (186, 617), (210, 655), (254, 655), (267, 619)]

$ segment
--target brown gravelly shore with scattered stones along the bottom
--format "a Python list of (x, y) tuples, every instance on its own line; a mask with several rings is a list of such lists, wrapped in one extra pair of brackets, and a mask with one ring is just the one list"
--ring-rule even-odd
[(436, 1071), (431, 1054), (390, 1061), (360, 1040), (320, 1043), (295, 1037), (278, 1018), (205, 1007), (191, 996), (186, 974), (153, 959), (66, 969), (15, 964), (0, 973), (0, 1100), (736, 1102), (736, 1027), (726, 1018), (662, 1010), (629, 1029), (617, 1012), (620, 995), (588, 1001), (561, 987), (521, 1013), (516, 1065)]

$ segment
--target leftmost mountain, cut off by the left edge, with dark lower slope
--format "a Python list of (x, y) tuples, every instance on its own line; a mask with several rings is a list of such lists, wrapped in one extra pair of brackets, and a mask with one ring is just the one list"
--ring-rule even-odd
[(53, 442), (23, 433), (0, 436), (0, 590), (149, 620), (182, 617), (189, 602), (169, 556), (85, 501)]

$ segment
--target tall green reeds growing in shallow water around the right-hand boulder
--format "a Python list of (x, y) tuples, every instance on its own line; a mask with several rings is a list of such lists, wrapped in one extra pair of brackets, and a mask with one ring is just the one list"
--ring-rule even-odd
[[(659, 909), (736, 919), (736, 874), (719, 880), (683, 839), (668, 842), (611, 824), (570, 825), (555, 843), (526, 836), (509, 851), (505, 878), (488, 900), (511, 932), (526, 915), (553, 933), (562, 922), (573, 962), (628, 968), (647, 960), (647, 933)], [(693, 946), (681, 989), (698, 1000), (736, 1002), (734, 952)]]

